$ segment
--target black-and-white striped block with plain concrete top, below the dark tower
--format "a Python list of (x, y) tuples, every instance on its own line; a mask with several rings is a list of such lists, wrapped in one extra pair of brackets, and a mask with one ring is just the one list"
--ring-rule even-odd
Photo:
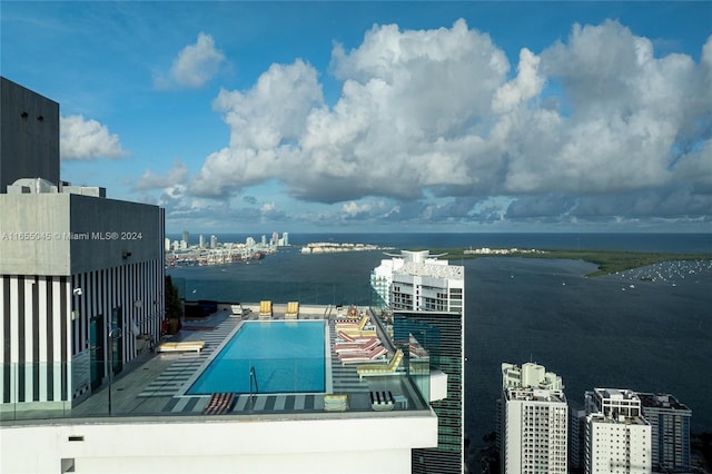
[[(136, 336), (158, 340), (164, 211), (82, 195), (0, 194), (0, 363), (8, 364), (0, 402), (61, 408), (90, 393), (92, 318), (107, 337), (111, 315), (121, 315), (123, 362), (142, 348)], [(101, 345), (105, 364), (109, 347)]]

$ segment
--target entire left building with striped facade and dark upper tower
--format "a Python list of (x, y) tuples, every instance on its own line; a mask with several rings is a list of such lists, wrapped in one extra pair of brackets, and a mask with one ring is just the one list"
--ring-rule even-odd
[(164, 210), (59, 180), (59, 105), (0, 83), (0, 411), (61, 411), (160, 337)]

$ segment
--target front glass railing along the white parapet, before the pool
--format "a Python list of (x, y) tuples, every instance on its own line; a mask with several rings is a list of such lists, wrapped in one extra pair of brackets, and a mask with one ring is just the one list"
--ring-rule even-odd
[[(158, 365), (166, 365), (166, 356), (155, 358), (161, 359)], [(51, 418), (284, 416), (289, 413), (427, 409), (421, 395), (424, 379), (416, 386), (405, 367), (389, 371), (387, 362), (356, 365), (355, 374), (357, 369), (369, 372), (359, 383), (357, 375), (344, 381), (334, 376), (329, 368), (319, 373), (318, 363), (314, 359), (230, 362), (219, 368), (231, 374), (224, 377), (221, 384), (204, 381), (201, 375), (215, 372), (209, 367), (192, 372), (188, 368), (171, 369), (168, 365), (166, 371), (157, 372), (155, 377), (147, 379), (147, 372), (157, 369), (151, 365), (152, 362), (147, 361), (135, 371), (117, 374), (111, 381), (105, 379), (100, 386), (87, 387), (82, 395), (72, 397), (63, 393), (61, 386), (48, 388), (47, 379), (36, 379), (39, 384), (34, 389), (24, 375), (32, 372), (32, 367), (6, 364), (1, 374), (6, 384), (2, 387), (0, 421), (7, 424)], [(38, 368), (60, 377), (60, 374), (71, 372), (66, 365)], [(71, 387), (71, 381), (67, 382), (67, 388)], [(360, 386), (354, 388), (355, 383)], [(344, 388), (346, 384), (349, 388)]]

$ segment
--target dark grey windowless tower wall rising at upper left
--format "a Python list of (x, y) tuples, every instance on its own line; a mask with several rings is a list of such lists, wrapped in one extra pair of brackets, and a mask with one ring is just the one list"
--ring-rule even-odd
[(0, 192), (19, 178), (59, 181), (59, 103), (0, 78)]

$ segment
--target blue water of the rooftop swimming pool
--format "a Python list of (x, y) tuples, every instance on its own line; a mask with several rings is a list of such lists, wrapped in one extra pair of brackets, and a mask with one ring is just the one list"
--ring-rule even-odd
[(187, 394), (250, 393), (250, 367), (257, 393), (324, 392), (324, 322), (246, 322)]

